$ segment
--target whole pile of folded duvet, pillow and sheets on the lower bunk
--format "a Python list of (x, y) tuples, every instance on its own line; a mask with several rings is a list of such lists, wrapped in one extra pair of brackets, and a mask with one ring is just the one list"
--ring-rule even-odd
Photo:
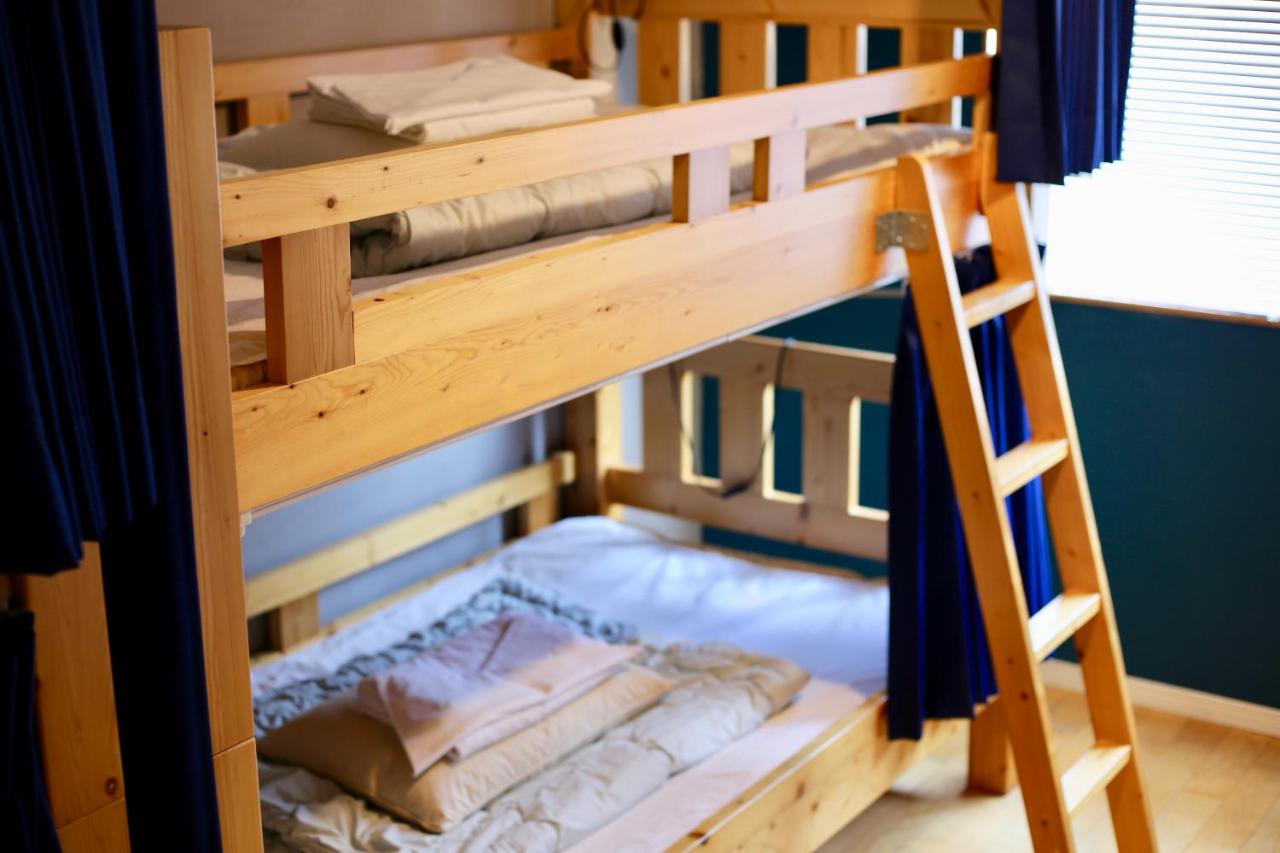
[[(355, 658), (369, 674), (340, 692), (308, 684), (268, 698), (260, 722), (284, 720), (259, 740), (264, 822), (279, 840), (563, 849), (758, 727), (808, 681), (794, 663), (726, 646), (618, 642), (628, 628), (556, 594), (515, 590), (535, 599), (526, 607), (500, 592), (497, 616), (472, 621), (474, 599), (415, 633), (440, 639), (411, 657)], [(303, 694), (315, 703), (279, 715)]]

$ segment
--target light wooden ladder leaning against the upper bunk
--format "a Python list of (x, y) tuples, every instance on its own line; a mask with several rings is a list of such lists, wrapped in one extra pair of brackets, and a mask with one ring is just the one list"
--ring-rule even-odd
[[(1007, 731), (1037, 850), (1073, 850), (1070, 816), (1102, 788), (1119, 848), (1155, 850), (1111, 592), (1025, 191), (995, 182), (995, 137), (986, 134), (982, 143), (980, 199), (995, 283), (960, 293), (943, 209), (923, 158), (899, 161), (897, 215), (927, 225), (927, 240), (906, 251), (910, 292), (1000, 685), (988, 711), (998, 711)], [(1032, 438), (996, 456), (969, 329), (1001, 315)], [(1032, 615), (1005, 498), (1037, 476), (1043, 478), (1064, 592)], [(1096, 744), (1060, 775), (1039, 663), (1071, 637)]]

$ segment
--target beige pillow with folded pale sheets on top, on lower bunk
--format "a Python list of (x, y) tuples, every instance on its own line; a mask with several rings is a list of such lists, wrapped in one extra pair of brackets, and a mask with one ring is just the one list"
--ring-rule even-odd
[(444, 831), (667, 693), (669, 679), (628, 663), (640, 652), (503, 615), (365, 678), (261, 751)]

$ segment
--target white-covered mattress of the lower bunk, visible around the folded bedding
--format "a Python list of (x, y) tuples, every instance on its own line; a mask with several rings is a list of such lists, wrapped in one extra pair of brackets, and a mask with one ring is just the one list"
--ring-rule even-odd
[[(788, 658), (813, 680), (787, 708), (673, 776), (576, 850), (664, 849), (883, 688), (888, 587), (675, 544), (603, 517), (567, 519), (430, 589), (253, 670), (255, 698), (401, 640), (502, 576), (625, 619), (653, 644), (724, 642)], [(279, 775), (264, 766), (264, 780)], [(319, 780), (316, 780), (319, 781)], [(301, 784), (289, 779), (289, 785)], [(317, 785), (323, 790), (323, 783)], [(349, 820), (387, 820), (352, 804)]]

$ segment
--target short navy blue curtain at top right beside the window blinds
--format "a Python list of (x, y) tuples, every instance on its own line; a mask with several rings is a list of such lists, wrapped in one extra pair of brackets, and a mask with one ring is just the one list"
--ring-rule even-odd
[(1120, 159), (1134, 0), (1005, 0), (997, 177), (1062, 183)]

